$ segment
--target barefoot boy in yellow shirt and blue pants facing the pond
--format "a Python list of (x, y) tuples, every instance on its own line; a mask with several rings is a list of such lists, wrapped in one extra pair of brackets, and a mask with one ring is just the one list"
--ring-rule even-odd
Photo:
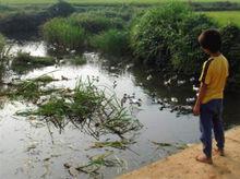
[(216, 153), (224, 156), (225, 136), (221, 116), (228, 61), (220, 53), (221, 38), (216, 29), (203, 32), (199, 37), (199, 43), (202, 49), (209, 55), (209, 59), (203, 64), (200, 93), (193, 108), (193, 114), (200, 115), (201, 141), (203, 143), (203, 154), (196, 156), (196, 160), (213, 164), (212, 129), (217, 142)]

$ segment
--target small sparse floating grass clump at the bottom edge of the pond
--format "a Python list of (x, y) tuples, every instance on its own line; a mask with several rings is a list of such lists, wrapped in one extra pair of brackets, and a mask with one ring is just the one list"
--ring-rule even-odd
[(99, 175), (99, 170), (103, 167), (124, 167), (125, 162), (118, 158), (117, 156), (110, 157), (112, 152), (108, 152), (101, 155), (95, 155), (89, 157), (89, 162), (86, 165), (73, 167), (70, 164), (64, 164), (64, 167), (69, 170), (70, 175), (76, 176), (75, 170), (85, 172), (91, 177), (96, 177)]

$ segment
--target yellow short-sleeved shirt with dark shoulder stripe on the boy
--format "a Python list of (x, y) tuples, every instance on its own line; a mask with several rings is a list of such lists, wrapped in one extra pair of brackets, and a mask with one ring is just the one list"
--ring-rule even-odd
[(223, 56), (212, 57), (203, 64), (200, 82), (207, 85), (203, 104), (212, 99), (224, 98), (224, 88), (228, 76), (228, 60)]

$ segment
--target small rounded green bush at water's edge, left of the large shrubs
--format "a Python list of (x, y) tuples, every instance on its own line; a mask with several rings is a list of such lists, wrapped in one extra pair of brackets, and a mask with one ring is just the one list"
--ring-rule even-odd
[(92, 46), (103, 52), (115, 56), (124, 56), (129, 52), (128, 33), (119, 29), (109, 29), (92, 39)]

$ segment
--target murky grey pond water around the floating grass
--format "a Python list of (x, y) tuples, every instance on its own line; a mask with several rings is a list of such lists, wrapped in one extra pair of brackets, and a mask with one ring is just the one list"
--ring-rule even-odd
[[(12, 52), (19, 49), (34, 56), (46, 56), (47, 47), (43, 41), (15, 45)], [(154, 142), (189, 144), (199, 141), (197, 117), (179, 115), (171, 108), (164, 108), (153, 103), (153, 98), (160, 98), (173, 105), (190, 107), (185, 98), (194, 97), (192, 83), (189, 80), (181, 84), (166, 86), (163, 74), (152, 73), (146, 69), (123, 65), (120, 62), (109, 62), (95, 52), (85, 52), (87, 63), (84, 65), (59, 64), (36, 69), (22, 75), (31, 79), (41, 74), (52, 75), (61, 80), (51, 83), (55, 86), (74, 87), (80, 77), (99, 79), (97, 86), (108, 86), (121, 99), (124, 94), (135, 94), (141, 98), (142, 106), (128, 105), (132, 115), (143, 124), (143, 129), (131, 133), (136, 143), (129, 150), (112, 150), (118, 158), (125, 160), (123, 167), (103, 168), (99, 178), (113, 178), (129, 170), (133, 170), (148, 163), (166, 157), (178, 151), (177, 147), (157, 147)], [(9, 76), (10, 77), (10, 76)], [(5, 80), (9, 80), (5, 79)], [(178, 102), (176, 102), (176, 99)], [(240, 115), (237, 110), (239, 96), (227, 95), (225, 110), (226, 127), (239, 124)], [(50, 123), (37, 119), (26, 119), (15, 116), (16, 111), (32, 107), (31, 104), (8, 103), (1, 99), (0, 110), (0, 178), (73, 178), (63, 164), (86, 164), (87, 156), (103, 154), (106, 148), (88, 150), (96, 140), (69, 123), (63, 131), (59, 131)], [(100, 136), (100, 141), (118, 139), (116, 135)], [(77, 174), (76, 178), (89, 178), (88, 175)]]

